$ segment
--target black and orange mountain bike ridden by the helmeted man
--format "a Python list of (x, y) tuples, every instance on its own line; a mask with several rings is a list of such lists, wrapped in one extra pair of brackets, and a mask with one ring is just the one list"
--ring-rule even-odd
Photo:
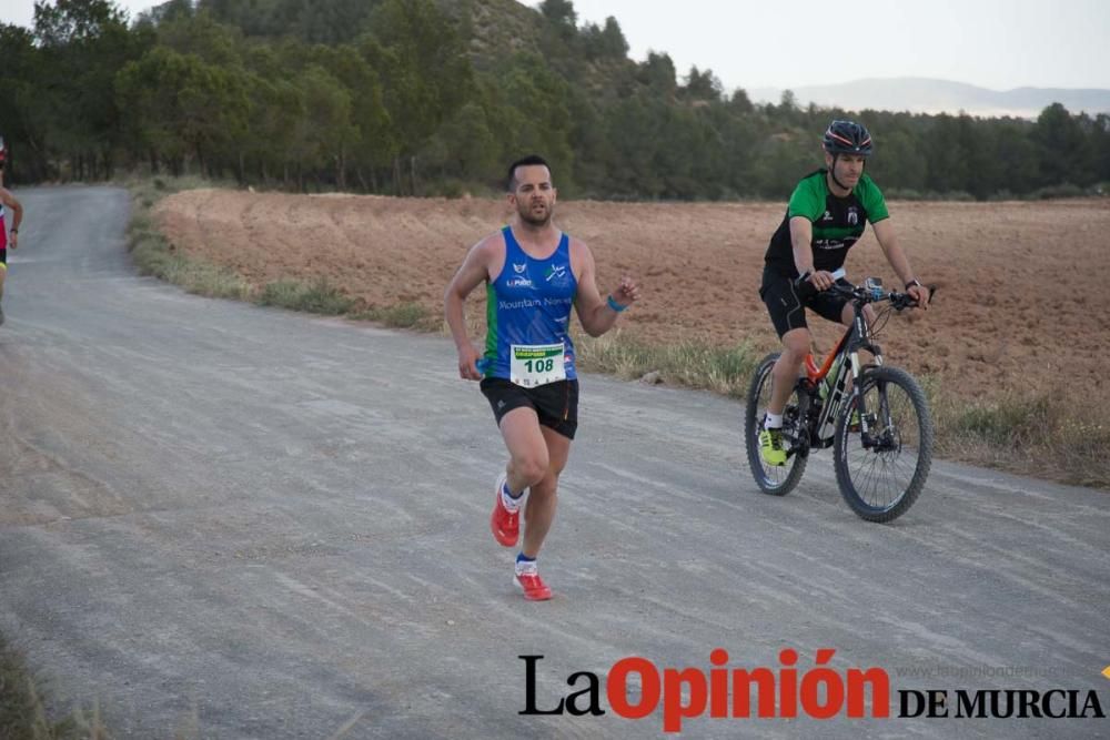
[[(906, 293), (885, 292), (876, 277), (862, 286), (837, 282), (829, 290), (849, 298), (852, 324), (819, 367), (813, 354), (806, 357), (806, 372), (783, 413), (787, 458), (781, 466), (767, 465), (759, 454), (771, 368), (780, 353), (759, 363), (744, 417), (748, 465), (763, 493), (785, 496), (801, 479), (810, 450), (833, 447), (837, 486), (851, 510), (868, 521), (891, 521), (914, 505), (929, 476), (932, 416), (920, 384), (906, 371), (885, 365), (875, 338), (891, 312), (917, 302)], [(871, 326), (864, 320), (868, 304), (886, 304), (876, 310)], [(861, 351), (870, 362), (864, 364)]]

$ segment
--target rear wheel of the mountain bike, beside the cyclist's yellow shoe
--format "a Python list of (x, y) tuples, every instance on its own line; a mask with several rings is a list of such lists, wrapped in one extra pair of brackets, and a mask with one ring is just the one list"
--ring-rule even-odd
[[(759, 430), (764, 414), (767, 413), (767, 404), (770, 403), (771, 369), (778, 356), (779, 353), (776, 352), (759, 363), (755, 377), (751, 378), (751, 386), (748, 388), (744, 410), (744, 446), (748, 453), (748, 467), (751, 468), (751, 475), (759, 490), (771, 496), (785, 496), (794, 490), (801, 479), (801, 474), (806, 472), (807, 460), (807, 450), (799, 449), (796, 444), (790, 444), (787, 448), (786, 465), (767, 465), (759, 454)], [(800, 439), (803, 438), (800, 435), (806, 434), (803, 427), (798, 392), (795, 389), (783, 412), (783, 432), (787, 438)]]

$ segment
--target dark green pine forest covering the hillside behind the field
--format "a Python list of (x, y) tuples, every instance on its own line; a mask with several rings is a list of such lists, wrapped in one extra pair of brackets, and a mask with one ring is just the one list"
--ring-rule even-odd
[[(0, 24), (9, 180), (199, 173), (289, 190), (488, 192), (541, 153), (564, 193), (784, 197), (834, 116), (876, 139), (888, 195), (1046, 196), (1110, 187), (1110, 116), (1036, 121), (753, 104), (709, 70), (628, 59), (616, 19), (571, 0), (36, 2)], [(753, 74), (757, 77), (757, 74)]]

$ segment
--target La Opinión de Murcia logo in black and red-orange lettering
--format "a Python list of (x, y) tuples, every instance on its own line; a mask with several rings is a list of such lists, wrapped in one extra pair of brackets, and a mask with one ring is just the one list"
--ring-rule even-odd
[[(735, 668), (728, 652), (709, 653), (709, 668), (659, 668), (647, 658), (617, 660), (604, 677), (592, 671), (567, 676), (563, 696), (538, 696), (536, 668), (542, 655), (524, 661), (527, 716), (599, 717), (612, 712), (642, 720), (662, 710), (663, 730), (679, 732), (683, 721), (700, 717), (743, 720), (794, 719), (1104, 719), (1096, 689), (898, 689), (880, 667), (838, 670), (834, 648), (817, 650), (811, 667), (799, 669), (798, 651), (778, 653), (776, 668)], [(1103, 671), (1110, 678), (1110, 667)], [(604, 699), (603, 699), (604, 696)], [(896, 713), (891, 713), (896, 711)]]

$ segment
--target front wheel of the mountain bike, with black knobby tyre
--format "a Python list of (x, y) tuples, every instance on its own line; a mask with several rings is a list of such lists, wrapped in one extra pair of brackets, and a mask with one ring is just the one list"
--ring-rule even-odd
[(905, 514), (932, 464), (932, 416), (914, 376), (897, 367), (867, 371), (837, 419), (833, 455), (840, 494), (859, 517), (891, 521)]

